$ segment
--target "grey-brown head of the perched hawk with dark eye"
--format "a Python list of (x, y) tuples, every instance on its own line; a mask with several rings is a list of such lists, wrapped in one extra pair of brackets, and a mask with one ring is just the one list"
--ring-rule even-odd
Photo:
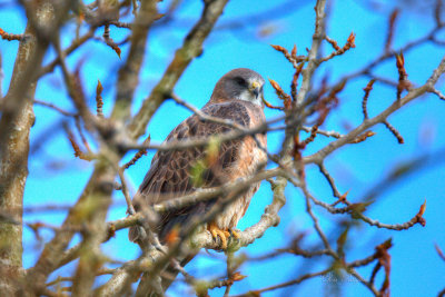
[(264, 78), (247, 68), (237, 68), (221, 77), (215, 86), (210, 100), (216, 102), (234, 99), (263, 107)]

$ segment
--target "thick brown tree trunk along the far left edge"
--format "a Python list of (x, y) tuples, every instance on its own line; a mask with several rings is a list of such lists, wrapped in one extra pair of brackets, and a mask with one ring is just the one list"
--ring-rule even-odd
[[(52, 20), (53, 7), (42, 3), (34, 14), (39, 24)], [(23, 190), (28, 177), (29, 135), (34, 122), (32, 109), (34, 75), (48, 42), (29, 22), (20, 41), (8, 93), (1, 101), (0, 119), (0, 291), (19, 295), (22, 277)]]

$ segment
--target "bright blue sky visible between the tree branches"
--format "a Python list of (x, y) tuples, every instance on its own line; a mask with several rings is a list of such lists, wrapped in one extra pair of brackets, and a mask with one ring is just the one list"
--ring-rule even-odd
[[(175, 49), (181, 44), (190, 26), (200, 14), (202, 1), (186, 1), (182, 3), (175, 21), (168, 27), (156, 27), (150, 31), (147, 56), (144, 62), (140, 83), (135, 95), (134, 111), (137, 111), (144, 98), (170, 61)], [(392, 4), (388, 4), (388, 3)], [(405, 1), (409, 2), (409, 1)], [(427, 1), (428, 2), (428, 1)], [(431, 1), (429, 1), (431, 2)], [(281, 4), (287, 3), (287, 4)], [(204, 53), (197, 58), (185, 71), (175, 88), (175, 92), (188, 102), (202, 107), (209, 99), (216, 81), (227, 71), (234, 68), (250, 68), (264, 76), (276, 80), (288, 91), (293, 68), (281, 53), (275, 51), (269, 44), (280, 44), (291, 49), (297, 44), (299, 53), (310, 47), (314, 30), (314, 3), (315, 1), (230, 1), (219, 19), (216, 30), (205, 42)], [(416, 3), (416, 2), (412, 2)], [(159, 10), (165, 11), (169, 1), (159, 3)], [(273, 7), (279, 7), (270, 11)], [(394, 49), (398, 49), (406, 42), (426, 34), (433, 27), (431, 10), (414, 6), (407, 8), (402, 1), (335, 1), (332, 6), (327, 33), (343, 46), (352, 31), (356, 33), (356, 48), (342, 57), (325, 63), (317, 72), (315, 86), (320, 78), (328, 76), (330, 82), (347, 73), (362, 69), (367, 62), (380, 55), (387, 34), (387, 18), (395, 6), (400, 6), (402, 11), (397, 22), (394, 39)], [(266, 12), (267, 13), (263, 13)], [(257, 14), (259, 13), (259, 14)], [(248, 18), (248, 16), (257, 16)], [(241, 23), (243, 26), (237, 26)], [(228, 27), (230, 24), (231, 27)], [(235, 26), (234, 26), (235, 24)], [(14, 2), (6, 1), (0, 7), (0, 28), (11, 33), (20, 33), (24, 30), (26, 18), (23, 11)], [(235, 29), (234, 29), (235, 27)], [(230, 29), (228, 29), (230, 28)], [(65, 28), (62, 43), (70, 44), (75, 32), (75, 26)], [(101, 32), (98, 31), (97, 36)], [(125, 29), (111, 28), (111, 37), (122, 40), (127, 34)], [(444, 34), (438, 34), (444, 37)], [(12, 73), (13, 60), (17, 53), (18, 42), (0, 40), (0, 52), (3, 61), (3, 80), (1, 83), (6, 93)], [(71, 69), (75, 69), (79, 60), (83, 61), (81, 68), (85, 90), (95, 108), (95, 93), (97, 80), (102, 82), (105, 111), (109, 111), (115, 98), (116, 73), (127, 56), (128, 47), (123, 46), (122, 60), (100, 41), (90, 41), (79, 51), (68, 58)], [(324, 46), (324, 52), (330, 52), (330, 46)], [(425, 43), (415, 50), (405, 52), (405, 68), (408, 79), (419, 86), (426, 81), (433, 69), (444, 56), (444, 48), (432, 43)], [(53, 58), (53, 51), (46, 57), (46, 63)], [(392, 80), (397, 80), (395, 60), (389, 59), (375, 71), (376, 75)], [(367, 79), (356, 79), (347, 85), (340, 93), (340, 105), (334, 110), (324, 125), (326, 130), (347, 132), (347, 127), (355, 127), (362, 122), (363, 88)], [(438, 89), (443, 90), (439, 82)], [(376, 82), (369, 96), (368, 111), (370, 116), (377, 115), (395, 100), (395, 89)], [(36, 98), (55, 103), (67, 110), (75, 110), (57, 68), (51, 75), (46, 76), (38, 85)], [(274, 105), (280, 103), (273, 88), (265, 87), (265, 98)], [(72, 148), (61, 129), (62, 118), (53, 110), (36, 106), (36, 125), (31, 129), (31, 157), (29, 160), (29, 178), (26, 185), (24, 206), (34, 207), (42, 205), (73, 205), (82, 191), (92, 164), (75, 159)], [(366, 194), (379, 181), (385, 179), (394, 168), (419, 156), (433, 156), (423, 169), (409, 175), (399, 182), (383, 191), (376, 201), (368, 208), (366, 215), (382, 222), (396, 224), (409, 220), (419, 206), (427, 200), (426, 227), (416, 225), (409, 230), (390, 231), (377, 229), (364, 224), (358, 224), (349, 231), (347, 246), (347, 260), (357, 257), (366, 257), (374, 253), (374, 247), (388, 238), (393, 238), (392, 255), (392, 294), (393, 296), (432, 296), (436, 295), (445, 286), (445, 263), (437, 256), (434, 244), (445, 249), (445, 218), (444, 218), (444, 156), (437, 154), (444, 151), (445, 139), (445, 102), (434, 96), (424, 96), (389, 117), (389, 122), (398, 129), (405, 139), (405, 145), (398, 145), (394, 136), (379, 125), (373, 128), (377, 135), (359, 145), (350, 145), (334, 152), (327, 158), (326, 166), (334, 176), (340, 192), (349, 190), (350, 201), (362, 201)], [(167, 101), (161, 106), (149, 123), (148, 132), (152, 141), (160, 142), (180, 121), (190, 112), (174, 102)], [(268, 119), (278, 112), (266, 110)], [(283, 133), (268, 135), (268, 148), (271, 152), (278, 151)], [(308, 146), (305, 155), (310, 155), (328, 143), (330, 139), (317, 137), (315, 143)], [(126, 171), (136, 191), (146, 171), (149, 168), (154, 152), (144, 157), (135, 166)], [(132, 157), (126, 156), (125, 160)], [(123, 162), (122, 162), (123, 164)], [(270, 167), (274, 167), (271, 164)], [(309, 190), (326, 202), (335, 201), (324, 177), (318, 169), (307, 167), (307, 181)], [(313, 224), (305, 212), (305, 201), (298, 189), (286, 189), (287, 204), (280, 210), (281, 221), (279, 227), (269, 228), (265, 236), (256, 240), (247, 248), (238, 251), (250, 256), (260, 256), (275, 248), (286, 247), (290, 239), (305, 232), (307, 236), (301, 247), (314, 248), (319, 240), (313, 229)], [(109, 220), (126, 216), (126, 206), (121, 192), (115, 192), (115, 205), (109, 212)], [(238, 225), (239, 229), (251, 226), (260, 218), (265, 206), (271, 201), (271, 191), (268, 182), (263, 182), (256, 194), (245, 218)], [(324, 209), (314, 208), (320, 219), (322, 227), (327, 236), (335, 242), (342, 232), (342, 221), (348, 216), (332, 216)], [(26, 214), (24, 220), (46, 221), (52, 225), (62, 222), (66, 214), (37, 212)], [(42, 238), (51, 238), (51, 231), (42, 231)], [(30, 229), (23, 231), (23, 265), (31, 267), (42, 244), (36, 244), (34, 235)], [(72, 244), (76, 244), (76, 238)], [(135, 259), (139, 255), (137, 245), (127, 239), (127, 230), (117, 232), (116, 238), (103, 245), (103, 251), (119, 260)], [(225, 274), (225, 260), (221, 254), (204, 251), (197, 257), (187, 270), (196, 276), (222, 276)], [(249, 289), (258, 289), (297, 278), (299, 275), (324, 269), (330, 264), (330, 258), (304, 259), (296, 256), (281, 256), (271, 261), (253, 261), (240, 268), (243, 275), (248, 277), (234, 285), (231, 294), (246, 293)], [(52, 275), (65, 276), (69, 266)], [(202, 268), (205, 267), (205, 268)], [(358, 269), (367, 279), (374, 265)], [(286, 289), (265, 293), (264, 296), (324, 296), (326, 290), (335, 289), (338, 285), (344, 296), (370, 296), (369, 290), (348, 277), (342, 283), (327, 283), (324, 278), (314, 278), (298, 286)], [(383, 280), (383, 271), (378, 274), (376, 286)], [(185, 286), (178, 285), (170, 291), (172, 296), (187, 291)], [(224, 290), (215, 289), (211, 296), (222, 296)]]

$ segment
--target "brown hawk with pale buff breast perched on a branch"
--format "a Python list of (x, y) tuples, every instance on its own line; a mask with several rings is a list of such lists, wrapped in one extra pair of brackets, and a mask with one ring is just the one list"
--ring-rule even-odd
[[(263, 87), (265, 80), (257, 72), (238, 68), (222, 76), (215, 86), (210, 100), (201, 112), (214, 118), (230, 120), (245, 128), (257, 127), (265, 121)], [(204, 120), (194, 115), (177, 126), (167, 137), (165, 143), (190, 139), (208, 139), (234, 130), (230, 126)], [(166, 199), (177, 198), (199, 189), (218, 187), (239, 178), (254, 175), (267, 161), (265, 133), (245, 136), (220, 142), (211, 152), (206, 147), (192, 147), (182, 150), (158, 151), (149, 171), (144, 178), (134, 198), (135, 209), (155, 205)], [(211, 155), (209, 157), (209, 155)], [(239, 235), (235, 228), (245, 215), (250, 199), (258, 190), (259, 182), (228, 204), (220, 214), (207, 224), (207, 229), (214, 238), (219, 237), (222, 249), (227, 247), (230, 236)], [(185, 226), (188, 221), (206, 214), (219, 199), (186, 206), (182, 209), (161, 214), (157, 221), (156, 232), (161, 242), (168, 235)], [(139, 227), (140, 228), (140, 227)], [(130, 229), (131, 241), (140, 240), (138, 227)], [(190, 260), (190, 257), (189, 259)], [(188, 261), (187, 260), (187, 261)]]

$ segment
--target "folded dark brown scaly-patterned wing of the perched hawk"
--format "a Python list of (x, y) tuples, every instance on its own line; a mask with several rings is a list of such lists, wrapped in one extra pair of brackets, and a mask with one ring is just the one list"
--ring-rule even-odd
[[(238, 125), (249, 127), (251, 117), (246, 107), (246, 102), (222, 102), (206, 106), (202, 112), (222, 119), (229, 119)], [(231, 128), (210, 121), (200, 120), (194, 115), (176, 127), (167, 137), (165, 142), (185, 140), (194, 138), (208, 138), (210, 136), (229, 132)], [(239, 148), (243, 139), (226, 141), (220, 145), (216, 161), (210, 168), (205, 168), (199, 178), (199, 187), (216, 187), (229, 180), (229, 172), (239, 158)], [(148, 205), (154, 205), (162, 200), (168, 200), (197, 189), (194, 185), (194, 168), (197, 161), (206, 158), (206, 147), (192, 147), (185, 150), (158, 151), (152, 161), (150, 170), (147, 172), (135, 198), (135, 207), (138, 209), (138, 199), (145, 200)], [(195, 170), (196, 171), (196, 170)], [(195, 174), (196, 175), (196, 174)], [(159, 237), (165, 235), (176, 224), (185, 222), (190, 216), (207, 210), (215, 200), (200, 202), (185, 207), (177, 211), (162, 214), (159, 224)], [(130, 239), (137, 238), (130, 235)]]

